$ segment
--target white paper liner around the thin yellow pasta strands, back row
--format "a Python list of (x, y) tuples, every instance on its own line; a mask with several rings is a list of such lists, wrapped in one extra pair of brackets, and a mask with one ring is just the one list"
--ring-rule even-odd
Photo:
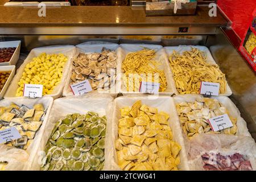
[[(152, 45), (152, 44), (120, 44), (120, 49), (118, 52), (118, 65), (119, 65), (119, 71), (121, 71), (121, 75), (123, 73), (122, 71), (122, 62), (125, 60), (125, 57), (127, 53), (140, 51), (144, 48), (147, 49), (154, 49), (156, 51), (156, 57), (155, 60), (158, 61), (161, 65), (159, 66), (160, 69), (163, 69), (164, 75), (166, 76), (167, 81), (167, 89), (164, 90), (164, 92), (159, 92), (159, 94), (168, 95), (171, 96), (175, 93), (175, 84), (173, 77), (171, 75), (171, 69), (168, 64), (168, 60), (166, 57), (166, 53), (164, 52), (164, 49), (162, 46), (159, 45)], [(126, 86), (123, 84), (122, 76), (120, 77), (120, 85), (119, 85), (119, 92), (122, 94), (141, 94), (138, 91), (135, 92), (127, 92)]]

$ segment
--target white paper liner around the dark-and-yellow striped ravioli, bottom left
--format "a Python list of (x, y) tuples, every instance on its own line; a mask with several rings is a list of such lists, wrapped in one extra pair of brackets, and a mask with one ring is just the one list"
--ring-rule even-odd
[[(49, 116), (49, 112), (51, 110), (52, 104), (53, 104), (53, 98), (49, 97), (49, 96), (45, 96), (42, 98), (35, 98), (35, 99), (31, 99), (31, 98), (20, 98), (20, 97), (15, 97), (15, 98), (5, 98), (4, 100), (0, 101), (0, 106), (9, 106), (12, 102), (14, 102), (16, 105), (26, 105), (30, 108), (33, 107), (33, 105), (35, 104), (43, 104), (44, 109), (46, 109), (46, 115), (44, 117), (44, 120), (42, 122), (42, 125), (40, 126), (40, 129), (36, 132), (36, 135), (32, 141), (32, 143), (30, 144), (30, 146), (28, 146), (27, 150), (21, 150), (21, 149), (16, 149), (16, 150), (7, 150), (7, 148), (5, 150), (5, 154), (8, 155), (8, 157), (11, 158), (15, 158), (15, 156), (17, 154), (20, 154), (20, 159), (25, 158), (26, 160), (22, 160), (20, 162), (20, 165), (22, 166), (26, 166), (27, 162), (30, 162), (33, 158), (33, 156), (35, 155), (35, 150), (36, 148), (38, 148), (39, 144), (40, 144), (40, 139), (42, 138), (42, 136), (44, 135), (44, 130), (47, 126), (47, 121), (48, 121), (48, 116)], [(2, 146), (3, 144), (0, 144), (0, 146)], [(26, 152), (28, 154), (28, 157), (26, 157), (26, 155), (24, 155), (24, 152)], [(4, 157), (4, 156), (3, 156)], [(19, 156), (17, 156), (19, 158)], [(4, 158), (3, 158), (4, 159)], [(11, 160), (12, 161), (12, 160)], [(14, 163), (9, 163), (8, 164), (8, 170), (22, 170), (23, 167), (17, 166), (16, 161), (13, 161)]]

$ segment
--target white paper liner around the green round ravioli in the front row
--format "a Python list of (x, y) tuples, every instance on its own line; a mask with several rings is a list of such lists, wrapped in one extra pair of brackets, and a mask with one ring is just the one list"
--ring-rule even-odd
[[(34, 151), (34, 156), (32, 160), (26, 164), (25, 170), (40, 170), (42, 164), (42, 154), (44, 153), (45, 146), (48, 142), (48, 139), (51, 137), (52, 130), (55, 127), (55, 124), (60, 119), (64, 119), (67, 114), (86, 114), (88, 111), (93, 111), (98, 113), (100, 117), (106, 115), (106, 142), (105, 143), (105, 158), (108, 155), (108, 147), (106, 144), (109, 143), (109, 130), (112, 121), (111, 108), (113, 108), (113, 98), (108, 94), (92, 94), (88, 93), (84, 96), (69, 96), (58, 98), (54, 100), (51, 112), (49, 113), (49, 118), (47, 122), (46, 129), (40, 140), (39, 146)], [(105, 160), (105, 167), (108, 166)]]

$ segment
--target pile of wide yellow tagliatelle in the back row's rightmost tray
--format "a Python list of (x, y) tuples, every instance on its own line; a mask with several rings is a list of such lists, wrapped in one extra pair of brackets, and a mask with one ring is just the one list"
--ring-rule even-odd
[(177, 91), (180, 94), (199, 93), (201, 81), (220, 84), (220, 94), (226, 93), (225, 74), (216, 64), (207, 63), (204, 52), (197, 48), (179, 55), (174, 51), (169, 57)]

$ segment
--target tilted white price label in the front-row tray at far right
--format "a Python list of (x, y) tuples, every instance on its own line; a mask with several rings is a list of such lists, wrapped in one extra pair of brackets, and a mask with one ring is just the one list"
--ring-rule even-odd
[(214, 118), (210, 118), (208, 119), (208, 122), (213, 131), (220, 131), (233, 126), (228, 114), (218, 115)]

